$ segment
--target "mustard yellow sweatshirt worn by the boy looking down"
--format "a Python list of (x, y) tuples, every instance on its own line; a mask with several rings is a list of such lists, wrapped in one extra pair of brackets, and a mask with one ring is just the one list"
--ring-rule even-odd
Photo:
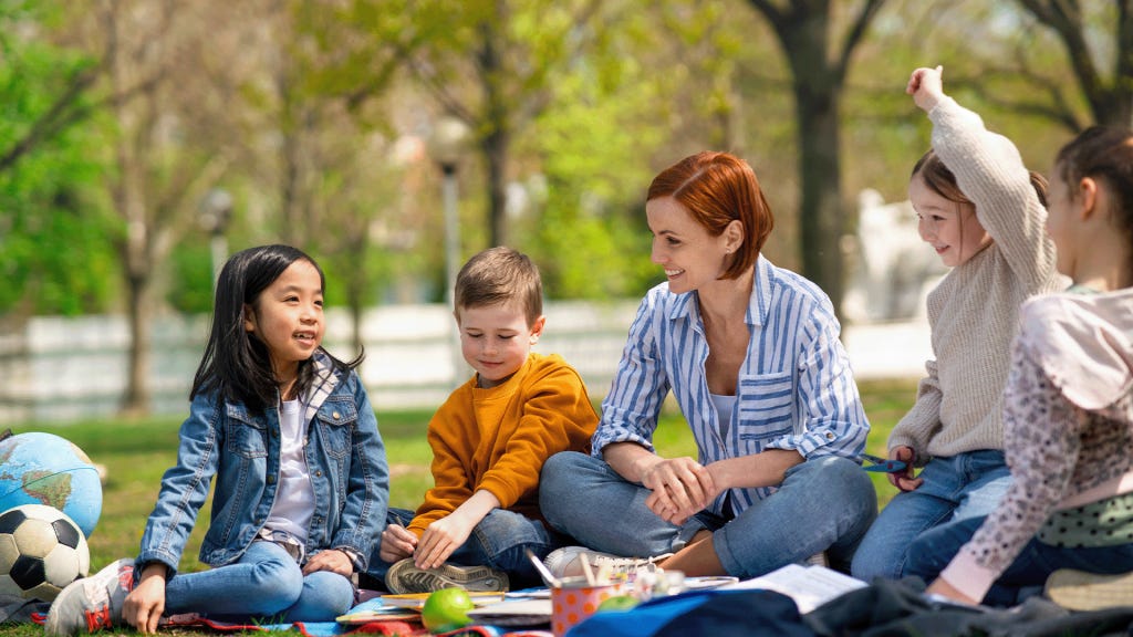
[(419, 537), (478, 490), (500, 507), (543, 519), (539, 470), (560, 451), (589, 452), (598, 415), (582, 379), (557, 355), (530, 354), (506, 382), (457, 388), (428, 424), (433, 489), (409, 530)]

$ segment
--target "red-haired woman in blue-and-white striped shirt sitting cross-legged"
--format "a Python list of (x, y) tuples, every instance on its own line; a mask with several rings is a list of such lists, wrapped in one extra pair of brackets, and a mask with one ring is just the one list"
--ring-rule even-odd
[[(547, 520), (602, 554), (570, 546), (548, 568), (672, 553), (664, 568), (696, 576), (756, 577), (816, 555), (847, 569), (877, 496), (858, 462), (869, 423), (829, 298), (760, 254), (770, 206), (734, 155), (662, 171), (645, 214), (666, 281), (630, 326), (593, 455), (552, 456), (539, 484)], [(696, 459), (654, 449), (670, 392)]]

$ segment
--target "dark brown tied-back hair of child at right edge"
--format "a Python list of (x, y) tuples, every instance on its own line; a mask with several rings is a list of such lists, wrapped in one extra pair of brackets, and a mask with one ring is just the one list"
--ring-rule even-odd
[(1133, 243), (1133, 131), (1116, 126), (1091, 126), (1058, 151), (1055, 170), (1077, 194), (1075, 184), (1089, 177), (1105, 182), (1113, 202), (1110, 214)]

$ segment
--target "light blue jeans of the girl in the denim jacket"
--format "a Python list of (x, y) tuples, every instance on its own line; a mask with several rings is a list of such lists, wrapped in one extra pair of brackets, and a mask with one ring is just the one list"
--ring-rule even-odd
[(253, 542), (239, 560), (165, 584), (165, 614), (266, 622), (334, 621), (353, 605), (350, 579), (330, 571), (304, 576), (283, 547)]

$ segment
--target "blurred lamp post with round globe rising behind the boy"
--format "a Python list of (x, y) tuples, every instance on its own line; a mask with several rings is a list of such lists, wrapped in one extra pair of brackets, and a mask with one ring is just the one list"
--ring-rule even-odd
[[(428, 151), (441, 167), (441, 201), (444, 212), (444, 298), (449, 307), (454, 305), (457, 273), (460, 270), (460, 216), (457, 212), (457, 167), (468, 142), (468, 126), (453, 117), (443, 117), (433, 127), (428, 138)], [(452, 347), (452, 384), (460, 383), (465, 368), (460, 355), (460, 339)]]

